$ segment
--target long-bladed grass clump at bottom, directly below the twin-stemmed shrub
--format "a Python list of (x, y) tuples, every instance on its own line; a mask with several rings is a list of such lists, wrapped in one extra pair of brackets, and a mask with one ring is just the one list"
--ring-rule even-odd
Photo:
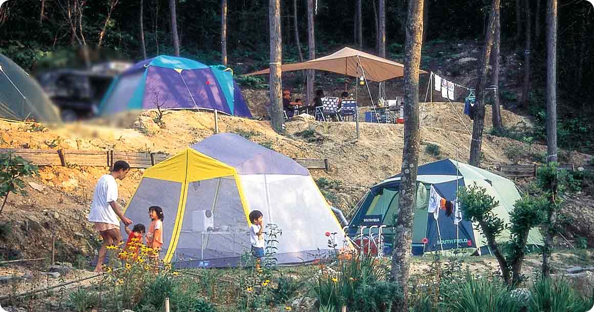
[(507, 286), (486, 278), (475, 278), (470, 273), (457, 288), (445, 292), (445, 297), (450, 311), (519, 312), (522, 308), (511, 298)]

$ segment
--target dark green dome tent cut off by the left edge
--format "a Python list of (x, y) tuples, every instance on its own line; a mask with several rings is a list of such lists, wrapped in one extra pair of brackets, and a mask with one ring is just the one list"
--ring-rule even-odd
[(0, 118), (60, 123), (58, 109), (29, 74), (0, 53)]

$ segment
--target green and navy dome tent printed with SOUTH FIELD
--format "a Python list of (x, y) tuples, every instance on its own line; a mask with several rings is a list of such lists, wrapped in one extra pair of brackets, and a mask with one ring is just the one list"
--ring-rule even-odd
[[(348, 229), (349, 237), (355, 238), (355, 243), (361, 239), (358, 237), (361, 227), (364, 227), (365, 235), (371, 227), (374, 227), (371, 228), (371, 231), (374, 237), (377, 237), (378, 227), (386, 225), (383, 234), (386, 236), (384, 241), (386, 241), (387, 252), (389, 252), (390, 246), (388, 245), (390, 244), (388, 242), (393, 239), (391, 238), (391, 227), (394, 225), (395, 215), (400, 210), (398, 203), (400, 177), (401, 174), (397, 174), (375, 184), (361, 200), (361, 205), (359, 205), (355, 217), (350, 221)], [(486, 193), (499, 202), (493, 211), (494, 214), (506, 223), (510, 222), (510, 212), (514, 209), (516, 200), (520, 199), (516, 184), (511, 180), (491, 171), (451, 159), (419, 166), (416, 182), (417, 196), (412, 233), (413, 254), (450, 249), (468, 249), (471, 253), (477, 251), (478, 254), (490, 253), (486, 246), (486, 238), (481, 231), (477, 230), (478, 224), (466, 221), (463, 218), (462, 209), (456, 205), (456, 191), (459, 187), (470, 186), (474, 183), (484, 187)], [(453, 210), (437, 208), (432, 211), (431, 208), (438, 206), (436, 204), (441, 199), (453, 203)], [(509, 238), (510, 231), (506, 229), (500, 234), (497, 241), (503, 243)], [(363, 238), (364, 245), (367, 239)], [(542, 235), (537, 228), (530, 230), (527, 244), (531, 247), (542, 246)]]

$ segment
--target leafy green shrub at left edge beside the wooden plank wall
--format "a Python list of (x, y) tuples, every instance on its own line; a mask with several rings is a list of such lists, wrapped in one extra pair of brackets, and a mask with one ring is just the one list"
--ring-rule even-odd
[(0, 154), (0, 200), (2, 200), (0, 212), (4, 209), (8, 194), (27, 196), (25, 182), (21, 178), (38, 174), (39, 168), (20, 156), (14, 156), (11, 153)]

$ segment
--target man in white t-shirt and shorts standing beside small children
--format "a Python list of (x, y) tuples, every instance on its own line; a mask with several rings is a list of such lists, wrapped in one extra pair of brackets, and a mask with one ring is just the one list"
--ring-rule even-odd
[(94, 223), (95, 230), (103, 238), (95, 272), (102, 272), (107, 247), (117, 245), (122, 240), (119, 220), (121, 219), (125, 225), (132, 224), (132, 220), (124, 216), (122, 206), (117, 202), (118, 183), (116, 179), (124, 180), (128, 171), (130, 171), (130, 165), (128, 163), (123, 160), (116, 161), (113, 164), (112, 172), (110, 174), (103, 174), (95, 186), (91, 212), (89, 212), (89, 217), (87, 217), (90, 222)]

